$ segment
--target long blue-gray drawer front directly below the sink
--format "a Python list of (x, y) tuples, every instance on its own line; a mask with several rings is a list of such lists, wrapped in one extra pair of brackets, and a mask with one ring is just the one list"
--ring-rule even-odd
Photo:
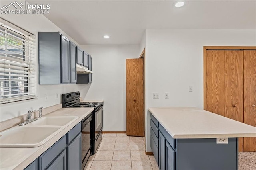
[(66, 148), (66, 135), (39, 156), (39, 170), (44, 170)]

